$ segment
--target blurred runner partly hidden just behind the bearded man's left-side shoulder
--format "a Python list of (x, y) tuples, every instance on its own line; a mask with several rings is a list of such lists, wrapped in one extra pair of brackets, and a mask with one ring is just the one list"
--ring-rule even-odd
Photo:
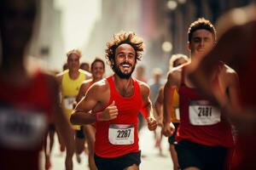
[[(94, 82), (98, 82), (102, 80), (103, 75), (105, 73), (105, 63), (102, 59), (94, 59), (94, 61), (90, 65), (91, 68), (91, 74), (92, 79), (86, 80), (81, 84), (81, 87), (79, 89), (79, 94), (77, 96), (77, 102), (85, 96), (86, 92), (90, 88), (90, 86)], [(95, 143), (95, 123), (84, 125), (83, 126), (84, 133), (86, 134), (87, 138), (87, 144), (88, 144), (88, 150), (89, 150), (89, 156), (88, 156), (88, 162), (90, 170), (96, 169), (96, 164), (94, 161), (94, 143)]]

